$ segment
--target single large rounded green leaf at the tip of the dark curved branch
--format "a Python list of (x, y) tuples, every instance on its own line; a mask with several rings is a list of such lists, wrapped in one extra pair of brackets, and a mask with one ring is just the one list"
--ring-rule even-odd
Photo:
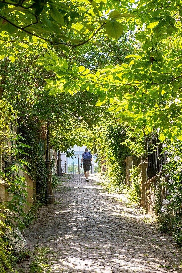
[(108, 20), (105, 24), (105, 33), (118, 39), (124, 31), (124, 27), (117, 21)]

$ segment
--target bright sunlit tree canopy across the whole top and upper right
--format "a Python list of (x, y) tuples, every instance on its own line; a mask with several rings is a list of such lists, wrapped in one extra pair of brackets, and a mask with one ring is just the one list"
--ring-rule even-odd
[[(45, 50), (35, 60), (49, 75), (54, 75), (42, 77), (50, 95), (91, 92), (99, 97), (97, 106), (107, 103), (109, 111), (115, 112), (119, 121), (135, 127), (140, 136), (157, 129), (160, 140), (182, 138), (180, 0), (0, 3), (1, 37), (5, 41), (1, 41), (1, 60), (8, 58), (13, 63), (20, 47), (34, 52), (37, 45), (42, 46)], [(130, 48), (133, 45), (135, 52), (124, 54), (122, 63), (116, 59), (105, 67), (93, 61), (90, 66), (83, 58), (76, 58), (75, 64), (72, 60), (70, 65), (66, 54), (73, 54), (71, 48), (79, 47), (79, 55), (84, 52), (89, 59), (94, 47), (102, 47), (102, 35), (113, 37), (116, 43), (125, 37), (125, 44), (130, 44)], [(104, 40), (109, 48), (107, 42)], [(85, 44), (89, 45), (88, 53)], [(101, 52), (103, 59), (107, 53), (105, 49)], [(6, 64), (3, 65), (5, 70)]]

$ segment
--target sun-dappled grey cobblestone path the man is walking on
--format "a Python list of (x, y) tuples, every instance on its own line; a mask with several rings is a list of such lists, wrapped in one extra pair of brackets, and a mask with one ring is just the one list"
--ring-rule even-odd
[[(55, 273), (181, 272), (175, 268), (181, 254), (171, 237), (142, 223), (117, 194), (102, 189), (98, 176), (89, 179), (84, 182), (81, 174), (61, 178), (55, 204), (44, 206), (26, 230), (28, 250), (49, 247)], [(20, 265), (25, 272), (30, 260)]]

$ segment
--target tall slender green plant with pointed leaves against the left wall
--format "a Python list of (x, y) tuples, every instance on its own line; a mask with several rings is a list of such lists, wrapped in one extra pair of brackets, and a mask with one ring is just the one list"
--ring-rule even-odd
[(29, 205), (27, 202), (28, 192), (26, 180), (25, 177), (21, 176), (23, 171), (27, 173), (25, 166), (28, 165), (28, 162), (21, 158), (27, 154), (24, 148), (31, 147), (24, 144), (22, 140), (24, 139), (18, 135), (13, 139), (14, 143), (11, 143), (11, 153), (14, 157), (13, 164), (7, 168), (6, 174), (1, 173), (4, 183), (8, 185), (7, 191), (10, 200), (5, 202), (6, 209), (4, 213), (7, 213), (5, 223), (11, 227), (10, 234), (12, 239), (10, 239), (10, 242), (15, 254), (19, 247), (17, 244), (17, 239), (19, 239), (17, 227), (19, 226), (21, 229), (24, 227), (21, 218), (25, 215), (25, 207)]

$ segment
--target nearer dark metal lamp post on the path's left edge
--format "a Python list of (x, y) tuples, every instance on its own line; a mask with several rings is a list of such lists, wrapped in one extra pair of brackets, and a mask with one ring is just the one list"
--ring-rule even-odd
[(51, 171), (51, 160), (50, 160), (50, 130), (49, 130), (50, 121), (47, 123), (47, 143), (46, 143), (46, 168), (48, 170), (47, 177), (47, 198), (49, 204), (54, 204), (54, 195), (52, 190), (52, 171)]

